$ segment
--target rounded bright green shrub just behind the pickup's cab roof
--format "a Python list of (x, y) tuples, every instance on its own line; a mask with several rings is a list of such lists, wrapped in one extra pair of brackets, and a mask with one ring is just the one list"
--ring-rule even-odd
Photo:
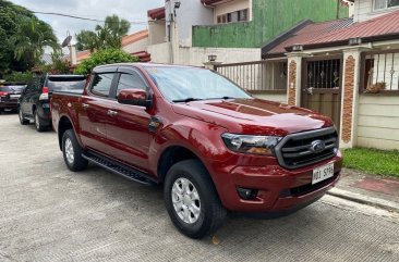
[(120, 49), (102, 49), (92, 53), (90, 58), (78, 64), (74, 73), (88, 75), (97, 65), (123, 62), (138, 62), (138, 58), (132, 57)]

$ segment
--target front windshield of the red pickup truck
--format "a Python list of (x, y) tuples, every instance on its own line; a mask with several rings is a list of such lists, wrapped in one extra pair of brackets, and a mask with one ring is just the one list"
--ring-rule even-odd
[(170, 102), (252, 98), (235, 84), (209, 70), (150, 66), (146, 67), (146, 71), (159, 91)]

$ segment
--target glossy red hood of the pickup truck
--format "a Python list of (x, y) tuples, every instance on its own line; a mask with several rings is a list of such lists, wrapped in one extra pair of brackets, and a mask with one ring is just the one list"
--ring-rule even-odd
[(281, 136), (334, 125), (330, 118), (311, 110), (262, 99), (177, 103), (173, 104), (173, 111), (237, 134)]

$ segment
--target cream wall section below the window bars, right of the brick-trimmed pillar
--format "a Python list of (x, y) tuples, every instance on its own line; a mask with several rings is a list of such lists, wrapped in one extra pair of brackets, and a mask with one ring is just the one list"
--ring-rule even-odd
[(358, 112), (359, 147), (399, 149), (398, 96), (361, 95)]

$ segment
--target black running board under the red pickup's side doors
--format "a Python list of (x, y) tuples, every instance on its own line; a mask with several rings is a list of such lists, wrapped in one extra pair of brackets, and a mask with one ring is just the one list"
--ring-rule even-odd
[(130, 180), (137, 182), (146, 186), (154, 186), (157, 184), (155, 179), (149, 178), (145, 173), (109, 160), (108, 158), (97, 153), (85, 152), (82, 153), (82, 158)]

